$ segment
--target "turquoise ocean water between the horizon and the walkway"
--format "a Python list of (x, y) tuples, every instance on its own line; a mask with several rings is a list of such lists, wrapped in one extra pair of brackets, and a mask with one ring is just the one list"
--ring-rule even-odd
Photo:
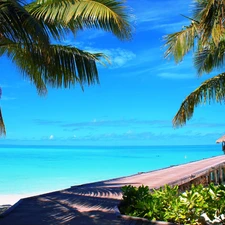
[(45, 193), (222, 155), (221, 145), (1, 146), (0, 195)]

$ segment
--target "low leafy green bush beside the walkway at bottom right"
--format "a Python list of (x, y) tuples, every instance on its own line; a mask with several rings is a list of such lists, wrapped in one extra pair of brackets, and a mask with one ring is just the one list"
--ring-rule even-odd
[(205, 213), (213, 221), (215, 218), (224, 224), (225, 187), (210, 184), (192, 186), (180, 193), (178, 186), (166, 185), (150, 191), (147, 186), (122, 188), (123, 200), (119, 205), (122, 214), (147, 218), (149, 220), (168, 221), (178, 224), (199, 224)]

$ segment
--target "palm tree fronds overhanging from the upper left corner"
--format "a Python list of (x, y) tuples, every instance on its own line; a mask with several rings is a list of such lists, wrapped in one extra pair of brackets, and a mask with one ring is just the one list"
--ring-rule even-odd
[[(0, 56), (6, 55), (36, 86), (68, 88), (99, 83), (96, 63), (102, 53), (60, 44), (68, 33), (103, 29), (121, 40), (131, 38), (130, 14), (123, 0), (0, 0)], [(59, 43), (59, 44), (52, 44)], [(0, 135), (5, 125), (0, 110)]]

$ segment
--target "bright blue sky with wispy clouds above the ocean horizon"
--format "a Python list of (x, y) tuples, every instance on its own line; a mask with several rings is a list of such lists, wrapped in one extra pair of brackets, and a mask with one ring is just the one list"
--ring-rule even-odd
[(194, 145), (215, 144), (225, 132), (225, 106), (202, 105), (182, 128), (172, 119), (183, 99), (213, 74), (197, 77), (192, 55), (176, 65), (164, 59), (163, 36), (189, 21), (192, 1), (128, 0), (135, 15), (133, 39), (121, 42), (99, 30), (68, 36), (65, 44), (104, 52), (112, 64), (99, 68), (100, 85), (51, 89), (40, 97), (7, 59), (0, 105), (7, 136), (1, 144)]

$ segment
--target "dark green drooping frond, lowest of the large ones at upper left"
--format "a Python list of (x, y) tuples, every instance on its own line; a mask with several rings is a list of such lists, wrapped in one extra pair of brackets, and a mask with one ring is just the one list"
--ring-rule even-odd
[(47, 86), (69, 88), (76, 84), (99, 83), (97, 62), (105, 55), (89, 53), (71, 46), (50, 45), (47, 50), (36, 46), (29, 52), (24, 46), (5, 41), (0, 54), (7, 54), (22, 73), (36, 86), (38, 93), (47, 93)]

